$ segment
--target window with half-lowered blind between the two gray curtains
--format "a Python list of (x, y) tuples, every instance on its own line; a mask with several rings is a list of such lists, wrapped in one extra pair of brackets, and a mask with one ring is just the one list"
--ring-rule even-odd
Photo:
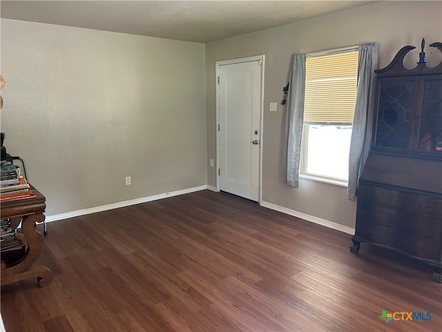
[(357, 48), (307, 55), (300, 176), (347, 185)]

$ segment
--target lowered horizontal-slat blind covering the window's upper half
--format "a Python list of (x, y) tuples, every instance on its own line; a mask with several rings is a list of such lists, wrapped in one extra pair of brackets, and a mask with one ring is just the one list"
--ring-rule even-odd
[(307, 57), (305, 123), (351, 124), (356, 103), (358, 51)]

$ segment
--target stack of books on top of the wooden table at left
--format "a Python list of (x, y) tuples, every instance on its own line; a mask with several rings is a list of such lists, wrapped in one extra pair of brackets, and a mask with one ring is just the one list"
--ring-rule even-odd
[(20, 167), (9, 161), (0, 164), (0, 202), (30, 199), (35, 194), (30, 189), (26, 178), (20, 175)]

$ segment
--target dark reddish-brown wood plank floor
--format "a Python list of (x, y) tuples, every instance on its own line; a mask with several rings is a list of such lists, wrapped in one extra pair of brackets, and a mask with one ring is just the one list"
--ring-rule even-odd
[(8, 332), (441, 331), (432, 269), (350, 238), (208, 190), (66, 219), (39, 259), (52, 283), (1, 287), (1, 314)]

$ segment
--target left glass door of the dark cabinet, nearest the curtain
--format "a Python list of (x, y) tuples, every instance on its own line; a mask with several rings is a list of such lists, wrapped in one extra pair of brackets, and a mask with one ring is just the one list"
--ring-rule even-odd
[(382, 82), (378, 97), (375, 146), (410, 148), (414, 81)]

